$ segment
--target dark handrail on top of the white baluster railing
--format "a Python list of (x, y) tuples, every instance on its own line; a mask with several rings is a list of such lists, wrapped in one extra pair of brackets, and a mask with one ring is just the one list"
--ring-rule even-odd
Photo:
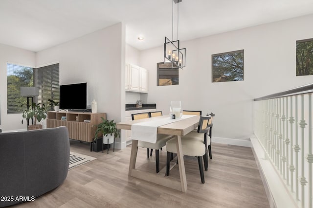
[(279, 97), (286, 97), (290, 95), (300, 95), (305, 93), (313, 92), (313, 84), (307, 84), (300, 87), (292, 88), (290, 90), (283, 91), (281, 93), (275, 93), (271, 95), (266, 95), (263, 97), (254, 98), (254, 101), (260, 101), (260, 100), (268, 100), (268, 99), (274, 99)]

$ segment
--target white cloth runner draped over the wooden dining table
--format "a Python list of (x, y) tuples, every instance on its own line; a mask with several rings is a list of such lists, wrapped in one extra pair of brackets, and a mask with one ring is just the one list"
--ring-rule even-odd
[(160, 117), (159, 119), (153, 121), (144, 121), (132, 124), (132, 139), (156, 143), (157, 127), (190, 118), (192, 116), (195, 115), (182, 115), (180, 118), (176, 119), (171, 119), (170, 116)]

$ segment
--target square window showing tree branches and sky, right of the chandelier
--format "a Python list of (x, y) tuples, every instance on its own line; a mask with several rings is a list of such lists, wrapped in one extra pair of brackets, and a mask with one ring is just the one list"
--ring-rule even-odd
[(244, 50), (212, 55), (212, 82), (244, 80)]

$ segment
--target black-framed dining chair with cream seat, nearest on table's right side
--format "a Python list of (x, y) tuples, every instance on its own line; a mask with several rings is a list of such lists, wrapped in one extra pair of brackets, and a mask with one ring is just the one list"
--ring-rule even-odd
[[(188, 156), (195, 156), (198, 158), (201, 183), (204, 184), (204, 173), (202, 165), (202, 157), (204, 160), (204, 170), (208, 168), (208, 157), (207, 157), (207, 133), (209, 131), (209, 120), (211, 115), (200, 116), (197, 134), (190, 134), (189, 137), (181, 137), (182, 154)], [(187, 134), (188, 135), (188, 134)], [(202, 138), (200, 140), (199, 138)], [(166, 142), (166, 175), (170, 175), (170, 161), (171, 153), (177, 153), (177, 138), (170, 139)]]

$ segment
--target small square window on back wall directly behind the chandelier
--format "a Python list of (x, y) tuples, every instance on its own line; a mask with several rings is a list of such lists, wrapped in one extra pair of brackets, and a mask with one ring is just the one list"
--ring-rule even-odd
[(156, 86), (178, 84), (179, 68), (172, 68), (172, 63), (156, 63)]

